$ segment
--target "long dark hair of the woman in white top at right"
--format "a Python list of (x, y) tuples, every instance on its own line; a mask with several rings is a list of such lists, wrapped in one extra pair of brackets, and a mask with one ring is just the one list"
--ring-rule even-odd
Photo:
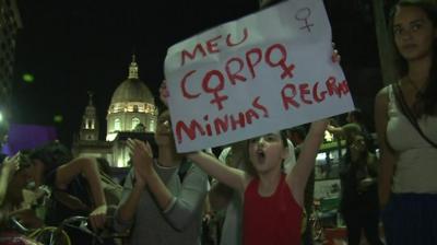
[[(390, 20), (389, 20), (389, 30), (390, 30), (390, 35), (392, 39), (392, 44), (395, 47), (394, 44), (394, 34), (393, 34), (393, 22), (394, 22), (394, 14), (399, 10), (399, 8), (402, 7), (415, 7), (420, 8), (422, 11), (425, 12), (426, 16), (433, 23), (433, 28), (437, 28), (437, 4), (430, 1), (413, 1), (413, 0), (401, 0), (399, 1), (398, 4), (393, 7), (393, 9), (390, 12)], [(409, 72), (408, 68), (408, 62), (406, 60), (399, 54), (399, 50), (397, 49), (394, 54), (394, 58), (397, 61), (397, 71), (398, 71), (398, 77), (402, 78), (405, 77)], [(432, 66), (429, 69), (429, 81), (427, 83), (427, 86), (425, 88), (425, 92), (423, 93), (422, 98), (420, 100), (420, 104), (417, 108), (417, 114), (418, 117), (422, 115), (436, 115), (437, 114), (437, 38), (434, 38), (433, 43), (433, 59), (432, 59)]]

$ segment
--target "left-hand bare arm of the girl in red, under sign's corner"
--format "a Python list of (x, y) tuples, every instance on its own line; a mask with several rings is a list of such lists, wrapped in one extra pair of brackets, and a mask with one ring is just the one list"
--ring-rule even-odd
[(216, 158), (204, 152), (189, 153), (187, 156), (206, 174), (213, 176), (218, 182), (229, 186), (240, 194), (244, 192), (248, 178), (244, 171), (226, 166)]

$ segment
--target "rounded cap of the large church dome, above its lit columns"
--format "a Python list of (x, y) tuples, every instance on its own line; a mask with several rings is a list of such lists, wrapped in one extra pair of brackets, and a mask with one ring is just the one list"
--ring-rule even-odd
[(113, 94), (110, 104), (125, 102), (143, 102), (155, 104), (154, 97), (143, 81), (134, 78), (125, 80)]

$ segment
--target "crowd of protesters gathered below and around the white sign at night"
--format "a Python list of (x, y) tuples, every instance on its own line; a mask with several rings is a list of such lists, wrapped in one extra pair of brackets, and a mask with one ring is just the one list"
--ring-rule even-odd
[[(349, 244), (358, 245), (362, 232), (371, 245), (383, 244), (381, 236), (389, 245), (437, 244), (436, 4), (401, 0), (389, 21), (399, 81), (376, 97), (377, 143), (355, 110), (343, 126), (322, 119), (235, 142), (220, 155), (181, 154), (164, 110), (157, 155), (150, 142), (127, 141), (122, 185), (107, 160), (74, 158), (57, 141), (2, 156), (0, 244), (23, 235), (11, 220), (32, 230), (75, 215), (87, 217), (95, 234), (125, 234), (104, 244), (312, 244), (315, 164), (326, 130), (346, 144), (339, 211)], [(166, 104), (165, 82), (160, 93)], [(92, 244), (91, 233), (66, 232), (71, 244)]]

